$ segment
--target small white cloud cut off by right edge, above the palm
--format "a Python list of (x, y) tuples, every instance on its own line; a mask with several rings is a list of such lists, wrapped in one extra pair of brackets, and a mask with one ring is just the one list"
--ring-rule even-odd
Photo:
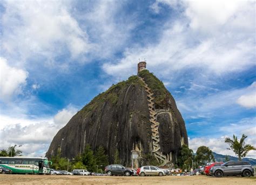
[(247, 88), (246, 94), (241, 95), (238, 98), (237, 103), (246, 108), (256, 107), (256, 82)]

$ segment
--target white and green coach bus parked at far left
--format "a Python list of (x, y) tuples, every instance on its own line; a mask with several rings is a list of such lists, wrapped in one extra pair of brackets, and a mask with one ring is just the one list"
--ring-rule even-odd
[(13, 174), (49, 174), (49, 163), (46, 157), (0, 157), (0, 166), (11, 169)]

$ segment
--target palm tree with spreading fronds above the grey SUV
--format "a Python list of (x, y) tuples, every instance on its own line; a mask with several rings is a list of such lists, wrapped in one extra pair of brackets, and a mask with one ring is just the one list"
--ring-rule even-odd
[(237, 136), (233, 135), (233, 140), (230, 138), (225, 138), (225, 142), (230, 145), (230, 148), (234, 151), (235, 155), (238, 156), (238, 160), (241, 161), (242, 157), (245, 157), (247, 153), (251, 150), (256, 150), (252, 145), (245, 145), (245, 139), (247, 135), (242, 134), (240, 141), (237, 139)]

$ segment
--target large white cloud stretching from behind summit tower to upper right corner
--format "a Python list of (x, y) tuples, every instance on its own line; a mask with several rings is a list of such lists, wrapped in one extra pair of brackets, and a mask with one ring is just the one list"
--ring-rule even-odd
[[(197, 1), (193, 2), (197, 3)], [(217, 18), (217, 20), (212, 20), (212, 15), (215, 11), (218, 12), (219, 5), (209, 16), (204, 15), (211, 8), (208, 5), (206, 10), (199, 12), (196, 18), (186, 16), (183, 12), (183, 15), (163, 26), (164, 30), (157, 43), (127, 49), (122, 59), (105, 63), (103, 70), (112, 76), (118, 74), (127, 77), (136, 73), (137, 59), (146, 58), (147, 67), (158, 71), (159, 76), (165, 79), (177, 76), (180, 71), (193, 71), (194, 68), (207, 76), (217, 77), (223, 77), (231, 72), (244, 71), (255, 65), (255, 42), (252, 39), (255, 25), (254, 9), (250, 2), (234, 6), (234, 10), (224, 13), (226, 5), (221, 5), (224, 7), (221, 9), (224, 18)], [(195, 7), (190, 3), (184, 6), (186, 10), (193, 9), (197, 12), (197, 6)], [(247, 13), (244, 13), (245, 9)], [(245, 14), (247, 16), (243, 17)], [(198, 17), (205, 19), (204, 21), (197, 20), (198, 26), (202, 29), (210, 29), (204, 22), (211, 21), (216, 22), (216, 24), (212, 23), (215, 29), (211, 29), (211, 32), (203, 32), (197, 26), (187, 26)], [(244, 19), (247, 19), (250, 24), (245, 31), (241, 31), (244, 29)], [(197, 75), (193, 74), (193, 76), (196, 78)]]

